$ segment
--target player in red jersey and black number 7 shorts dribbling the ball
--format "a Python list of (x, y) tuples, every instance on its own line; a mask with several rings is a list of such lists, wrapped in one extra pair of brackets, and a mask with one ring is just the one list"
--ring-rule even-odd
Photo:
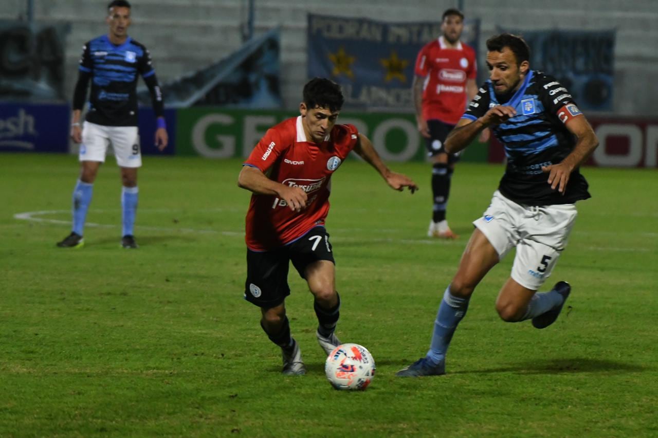
[(261, 308), (261, 327), (281, 347), (284, 374), (305, 374), (297, 341), (290, 335), (285, 299), (291, 261), (315, 298), (318, 343), (326, 354), (340, 341), (334, 334), (340, 297), (334, 256), (324, 219), (330, 179), (355, 151), (395, 190), (417, 185), (389, 170), (355, 126), (337, 125), (343, 105), (338, 84), (315, 78), (304, 86), (301, 116), (270, 128), (245, 163), (238, 185), (253, 192), (247, 211), (245, 299)]

